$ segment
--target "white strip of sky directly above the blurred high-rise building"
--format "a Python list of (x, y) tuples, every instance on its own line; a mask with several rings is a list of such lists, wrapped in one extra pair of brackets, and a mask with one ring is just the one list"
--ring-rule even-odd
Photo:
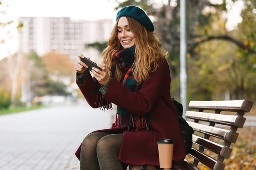
[(15, 17), (71, 17), (96, 20), (113, 18), (115, 0), (3, 0)]

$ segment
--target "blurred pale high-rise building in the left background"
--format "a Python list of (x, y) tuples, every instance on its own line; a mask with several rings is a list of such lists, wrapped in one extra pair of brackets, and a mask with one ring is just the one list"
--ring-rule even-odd
[(101, 54), (94, 48), (85, 48), (85, 44), (104, 42), (110, 37), (112, 20), (71, 20), (68, 17), (20, 17), (23, 23), (19, 37), (20, 49), (24, 53), (34, 50), (39, 56), (58, 51), (76, 59), (84, 54), (95, 62)]

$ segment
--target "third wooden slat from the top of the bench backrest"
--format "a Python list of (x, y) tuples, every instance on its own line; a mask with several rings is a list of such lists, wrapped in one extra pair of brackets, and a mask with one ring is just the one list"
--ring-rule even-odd
[(215, 136), (220, 139), (224, 139), (226, 141), (236, 143), (236, 139), (238, 137), (238, 133), (232, 131), (232, 130), (226, 130), (226, 129), (221, 129), (218, 127), (212, 127), (208, 125), (202, 125), (199, 123), (195, 122), (190, 122), (187, 121), (189, 126), (191, 126), (195, 131), (208, 134), (211, 136)]

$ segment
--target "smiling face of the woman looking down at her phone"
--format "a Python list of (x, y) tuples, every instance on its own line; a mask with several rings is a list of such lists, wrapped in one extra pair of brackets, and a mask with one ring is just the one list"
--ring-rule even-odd
[(130, 48), (135, 43), (136, 35), (131, 32), (126, 17), (119, 18), (117, 24), (117, 38), (123, 48)]

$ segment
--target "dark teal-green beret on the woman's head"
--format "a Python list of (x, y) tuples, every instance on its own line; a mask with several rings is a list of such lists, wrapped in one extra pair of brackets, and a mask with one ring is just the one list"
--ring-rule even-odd
[(122, 9), (120, 9), (116, 14), (116, 20), (119, 17), (131, 17), (134, 20), (137, 20), (141, 25), (143, 25), (147, 31), (153, 32), (154, 31), (154, 25), (149, 19), (149, 17), (146, 15), (146, 13), (137, 6), (125, 6)]

